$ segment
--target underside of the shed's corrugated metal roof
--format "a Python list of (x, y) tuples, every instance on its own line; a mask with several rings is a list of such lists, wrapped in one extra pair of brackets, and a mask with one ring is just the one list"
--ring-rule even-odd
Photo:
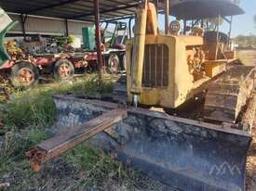
[[(133, 15), (140, 0), (100, 0), (101, 19)], [(1, 0), (7, 12), (60, 19), (94, 20), (93, 0)]]

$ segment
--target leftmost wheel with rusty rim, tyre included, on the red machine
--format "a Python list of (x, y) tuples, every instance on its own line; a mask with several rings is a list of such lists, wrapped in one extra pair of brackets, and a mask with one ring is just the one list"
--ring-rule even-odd
[(29, 88), (39, 81), (39, 72), (34, 64), (21, 61), (11, 68), (10, 79), (15, 87)]

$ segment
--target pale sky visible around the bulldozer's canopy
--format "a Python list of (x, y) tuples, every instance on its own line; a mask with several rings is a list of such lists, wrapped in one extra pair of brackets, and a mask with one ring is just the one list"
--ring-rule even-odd
[[(256, 15), (256, 0), (240, 0), (240, 5), (246, 12), (244, 15), (235, 16), (232, 26), (232, 37), (236, 37), (239, 34), (256, 35), (256, 25), (253, 23), (253, 16)], [(175, 18), (170, 17), (169, 20)], [(160, 30), (164, 30), (165, 19), (163, 15), (159, 15), (159, 27)], [(224, 21), (221, 26), (221, 31), (227, 33), (229, 31), (229, 25)]]

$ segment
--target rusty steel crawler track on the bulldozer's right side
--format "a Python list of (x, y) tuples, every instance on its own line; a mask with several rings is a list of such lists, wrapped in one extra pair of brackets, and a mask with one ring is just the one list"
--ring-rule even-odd
[(209, 84), (204, 118), (236, 123), (253, 89), (254, 67), (234, 66)]

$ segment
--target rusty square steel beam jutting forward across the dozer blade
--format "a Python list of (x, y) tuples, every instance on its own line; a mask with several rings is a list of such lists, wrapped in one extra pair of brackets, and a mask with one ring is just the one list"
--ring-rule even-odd
[(127, 110), (116, 108), (110, 110), (100, 117), (83, 123), (78, 127), (78, 131), (61, 134), (50, 138), (41, 144), (32, 147), (26, 152), (25, 157), (33, 165), (34, 171), (38, 172), (41, 165), (50, 159), (61, 156), (67, 150), (78, 146), (96, 134), (110, 129), (115, 123), (127, 118)]

